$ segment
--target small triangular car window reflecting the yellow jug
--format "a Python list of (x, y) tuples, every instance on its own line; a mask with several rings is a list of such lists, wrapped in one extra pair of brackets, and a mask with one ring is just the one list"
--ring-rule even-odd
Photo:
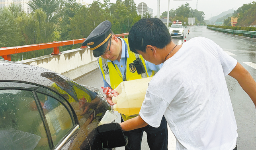
[[(45, 112), (53, 144), (56, 146), (73, 127), (70, 113), (63, 104), (55, 98), (41, 93), (37, 93), (37, 96)], [(41, 124), (41, 126), (43, 126), (43, 124)]]

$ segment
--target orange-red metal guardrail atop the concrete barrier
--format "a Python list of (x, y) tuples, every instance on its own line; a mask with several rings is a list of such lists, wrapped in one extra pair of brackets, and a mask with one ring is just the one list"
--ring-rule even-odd
[[(129, 33), (122, 33), (115, 35), (116, 37), (125, 37), (125, 35), (129, 35)], [(4, 60), (11, 61), (11, 54), (18, 54), (23, 52), (29, 52), (34, 50), (43, 50), (47, 48), (53, 48), (53, 55), (61, 54), (59, 52), (59, 46), (66, 46), (72, 44), (79, 44), (84, 42), (86, 38), (76, 39), (76, 40), (64, 40), (58, 42), (49, 42), (49, 43), (41, 43), (41, 44), (33, 44), (33, 45), (23, 45), (23, 46), (14, 46), (14, 47), (4, 47), (0, 48), (0, 56), (4, 58)], [(86, 48), (87, 46), (82, 46), (81, 48)]]

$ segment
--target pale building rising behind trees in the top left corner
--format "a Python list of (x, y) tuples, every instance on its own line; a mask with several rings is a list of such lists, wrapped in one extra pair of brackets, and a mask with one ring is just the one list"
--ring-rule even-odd
[(0, 0), (0, 8), (4, 8), (4, 7), (8, 7), (10, 4), (18, 4), (21, 5), (21, 8), (27, 12), (30, 13), (31, 10), (29, 9), (29, 6), (27, 5), (27, 3), (30, 0)]

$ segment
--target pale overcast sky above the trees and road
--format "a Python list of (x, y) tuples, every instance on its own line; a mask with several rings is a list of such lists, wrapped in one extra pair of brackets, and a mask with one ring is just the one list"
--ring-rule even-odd
[[(80, 0), (83, 3), (91, 4), (93, 0)], [(205, 20), (210, 17), (214, 17), (219, 15), (222, 12), (225, 12), (229, 9), (234, 8), (234, 10), (238, 9), (243, 4), (248, 4), (253, 0), (170, 0), (170, 9), (176, 10), (182, 4), (186, 4), (186, 2), (190, 3), (190, 7), (194, 10), (196, 8), (197, 2), (197, 10), (203, 11), (205, 13)], [(115, 3), (116, 0), (110, 0), (111, 3)], [(154, 15), (156, 15), (157, 10), (157, 0), (135, 0), (136, 5), (139, 3), (145, 2), (149, 8), (154, 10)], [(160, 0), (160, 14), (162, 12), (167, 11), (168, 9), (168, 0)]]

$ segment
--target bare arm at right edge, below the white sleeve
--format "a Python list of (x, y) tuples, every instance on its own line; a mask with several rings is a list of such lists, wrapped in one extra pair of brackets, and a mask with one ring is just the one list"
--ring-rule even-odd
[(237, 62), (236, 67), (229, 73), (235, 78), (244, 91), (250, 96), (256, 106), (256, 83), (250, 73)]

